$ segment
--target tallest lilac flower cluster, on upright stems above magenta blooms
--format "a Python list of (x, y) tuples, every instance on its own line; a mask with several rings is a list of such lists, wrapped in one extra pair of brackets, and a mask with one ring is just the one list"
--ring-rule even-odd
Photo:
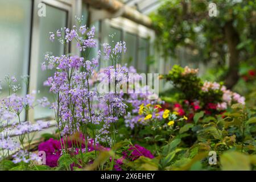
[[(77, 19), (77, 22), (79, 26), (73, 26), (72, 29), (60, 28), (56, 34), (50, 32), (51, 41), (57, 37), (59, 42), (64, 44), (65, 54), (45, 56), (46, 62), (42, 64), (42, 69), (55, 69), (55, 73), (44, 85), (49, 86), (50, 92), (56, 95), (56, 101), (51, 108), (55, 110), (57, 128), (61, 136), (67, 137), (79, 132), (88, 136), (87, 130), (90, 127), (92, 136), (89, 137), (93, 138), (94, 143), (98, 140), (112, 146), (117, 131), (115, 123), (120, 115), (126, 113), (127, 106), (123, 102), (122, 94), (97, 92), (94, 75), (101, 52), (99, 51), (92, 60), (88, 60), (88, 52), (97, 46), (94, 39), (96, 30), (95, 27), (89, 29), (81, 25), (81, 19)], [(76, 41), (81, 56), (71, 56), (67, 52), (66, 47), (73, 40)], [(112, 62), (112, 66), (104, 69), (104, 73), (108, 74), (110, 69), (113, 69), (116, 75), (115, 84), (127, 77), (126, 70), (117, 65), (119, 56), (125, 51), (125, 42), (118, 42), (114, 48), (104, 44), (104, 54)]]

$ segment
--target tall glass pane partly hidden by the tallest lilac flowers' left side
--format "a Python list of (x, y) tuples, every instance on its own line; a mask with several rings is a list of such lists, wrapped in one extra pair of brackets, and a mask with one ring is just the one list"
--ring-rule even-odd
[[(47, 80), (49, 76), (52, 76), (54, 71), (42, 71), (41, 64), (44, 61), (44, 55), (51, 51), (52, 55), (60, 56), (64, 53), (64, 46), (57, 40), (51, 42), (49, 40), (49, 32), (56, 32), (61, 27), (66, 26), (67, 11), (57, 9), (56, 7), (46, 6), (46, 17), (39, 18), (39, 64), (38, 64), (38, 82), (37, 89), (40, 91), (37, 98), (44, 96), (48, 97), (49, 101), (54, 100), (52, 93), (49, 93), (49, 87), (43, 86), (43, 82)], [(35, 119), (46, 118), (53, 116), (53, 111), (48, 107), (35, 107)]]

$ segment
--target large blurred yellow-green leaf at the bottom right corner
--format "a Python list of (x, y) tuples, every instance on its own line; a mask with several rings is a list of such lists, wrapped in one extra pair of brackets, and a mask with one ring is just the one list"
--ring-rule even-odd
[(237, 151), (224, 152), (220, 156), (221, 169), (224, 171), (249, 171), (249, 156)]

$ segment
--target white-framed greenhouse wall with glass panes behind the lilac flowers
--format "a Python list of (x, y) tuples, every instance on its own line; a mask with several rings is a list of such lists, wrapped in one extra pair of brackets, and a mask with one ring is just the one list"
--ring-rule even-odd
[[(46, 5), (46, 16), (38, 15), (41, 8), (40, 3)], [(161, 73), (160, 69), (164, 68), (160, 68), (158, 63), (147, 64), (148, 57), (154, 55), (155, 51), (154, 30), (121, 16), (100, 18), (92, 22), (88, 17), (89, 12), (91, 13), (94, 9), (81, 0), (24, 0), (22, 2), (20, 0), (1, 0), (0, 10), (2, 13), (0, 18), (0, 60), (1, 64), (5, 65), (0, 68), (0, 76), (4, 78), (8, 74), (15, 75), (22, 84), (20, 76), (30, 75), (30, 92), (39, 90), (36, 96), (38, 98), (46, 96), (49, 101), (54, 100), (53, 95), (43, 86), (43, 82), (53, 73), (52, 71), (42, 72), (41, 64), (44, 61), (44, 55), (49, 50), (51, 52), (48, 53), (53, 55), (64, 53), (63, 46), (49, 41), (49, 32), (56, 31), (59, 27), (69, 27), (71, 24), (75, 24), (75, 16), (83, 17), (82, 21), (87, 26), (90, 23), (89, 26), (96, 27), (96, 38), (100, 46), (90, 52), (89, 58), (96, 56), (103, 42), (125, 41), (127, 52), (122, 56), (122, 63), (127, 63), (128, 66), (133, 66), (138, 72), (143, 73)], [(113, 38), (110, 38), (109, 35), (113, 35)], [(72, 44), (69, 51), (73, 55), (79, 53), (76, 44)], [(153, 59), (158, 58), (154, 56)], [(108, 62), (104, 59), (100, 60), (100, 67), (103, 68), (107, 64)], [(3, 90), (7, 90), (6, 86), (3, 85)], [(24, 85), (21, 86), (26, 88)], [(19, 92), (26, 94), (28, 90), (21, 89)], [(1, 97), (4, 96), (7, 96), (7, 93), (2, 92)], [(36, 107), (35, 110), (30, 111), (28, 116), (22, 113), (24, 120), (28, 117), (31, 121), (51, 120), (54, 114), (47, 108)]]

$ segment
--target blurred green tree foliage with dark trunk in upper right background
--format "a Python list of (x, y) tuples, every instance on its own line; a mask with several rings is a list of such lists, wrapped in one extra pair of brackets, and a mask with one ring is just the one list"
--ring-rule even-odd
[[(212, 2), (216, 16), (209, 16)], [(229, 89), (255, 97), (254, 0), (167, 0), (150, 17), (164, 57), (177, 57), (180, 47), (190, 49), (197, 61), (210, 65), (203, 80), (224, 81)]]

